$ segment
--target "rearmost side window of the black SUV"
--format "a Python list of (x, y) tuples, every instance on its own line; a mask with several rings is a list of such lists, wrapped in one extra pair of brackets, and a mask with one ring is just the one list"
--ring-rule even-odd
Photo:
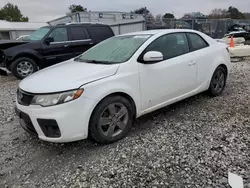
[(114, 36), (113, 31), (108, 26), (91, 26), (89, 27), (89, 31), (96, 42), (101, 42)]

